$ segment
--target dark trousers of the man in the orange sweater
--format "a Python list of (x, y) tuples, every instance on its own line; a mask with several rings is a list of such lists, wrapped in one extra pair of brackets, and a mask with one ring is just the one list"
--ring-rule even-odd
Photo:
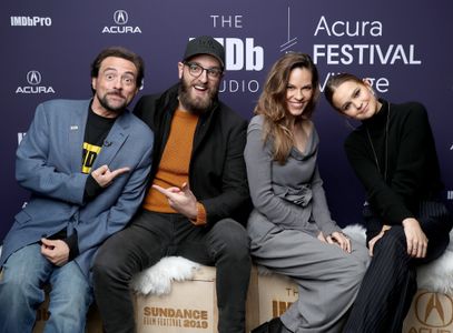
[(245, 332), (252, 268), (249, 240), (232, 219), (195, 226), (180, 214), (140, 212), (100, 248), (93, 265), (95, 295), (105, 332), (135, 332), (131, 278), (161, 258), (180, 255), (216, 266), (218, 332)]

